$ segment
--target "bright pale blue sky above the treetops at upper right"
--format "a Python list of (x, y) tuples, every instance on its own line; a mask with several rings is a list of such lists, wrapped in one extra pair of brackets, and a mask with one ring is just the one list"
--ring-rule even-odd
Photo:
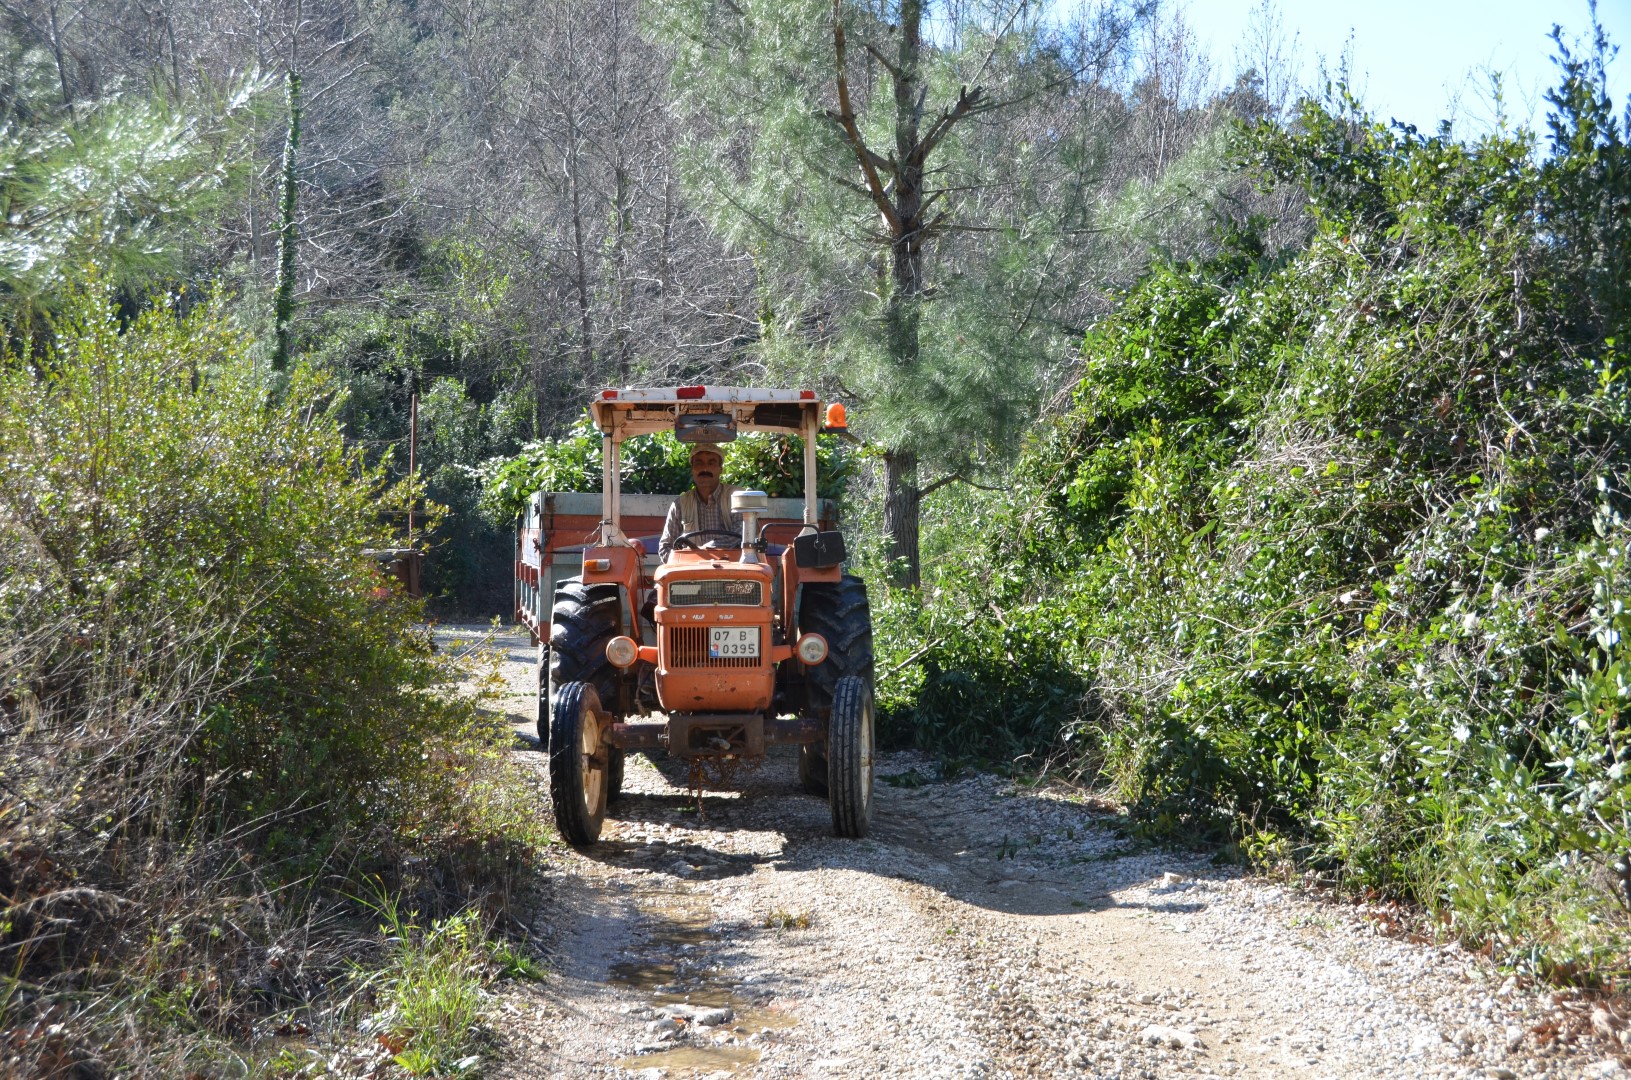
[[(1248, 16), (1259, 0), (1169, 3), (1184, 11), (1196, 39), (1210, 52), (1217, 80), (1231, 77)], [(1285, 33), (1300, 38), (1305, 85), (1311, 85), (1319, 55), (1334, 67), (1352, 33), (1355, 83), (1378, 119), (1398, 117), (1434, 131), (1455, 114), (1460, 134), (1476, 134), (1489, 122), (1491, 109), (1481, 95), (1487, 80), (1468, 82), (1484, 67), (1505, 73), (1514, 122), (1530, 122), (1545, 134), (1543, 95), (1556, 83), (1546, 36), (1559, 23), (1566, 41), (1584, 39), (1589, 21), (1587, 0), (1277, 0), (1277, 8)], [(1597, 16), (1621, 47), (1608, 75), (1615, 113), (1623, 114), (1631, 90), (1631, 0), (1600, 0)]]

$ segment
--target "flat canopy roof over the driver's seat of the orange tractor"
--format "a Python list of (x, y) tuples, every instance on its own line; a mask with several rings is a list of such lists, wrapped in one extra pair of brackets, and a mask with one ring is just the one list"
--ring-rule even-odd
[(727, 442), (742, 431), (802, 434), (822, 426), (814, 390), (661, 387), (602, 390), (590, 403), (602, 434), (617, 442), (672, 431), (682, 442)]

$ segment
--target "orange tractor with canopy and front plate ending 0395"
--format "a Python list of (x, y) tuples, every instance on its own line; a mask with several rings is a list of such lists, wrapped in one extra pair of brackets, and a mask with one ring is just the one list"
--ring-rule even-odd
[[(602, 444), (597, 537), (568, 550), (556, 509), (538, 493), (517, 533), (517, 615), (540, 646), (538, 741), (561, 834), (594, 843), (623, 781), (628, 750), (667, 750), (693, 775), (799, 747), (799, 783), (825, 795), (833, 834), (866, 835), (873, 812), (873, 623), (866, 584), (842, 571), (843, 535), (816, 494), (816, 436), (843, 426), (811, 390), (675, 387), (603, 390), (590, 405)], [(651, 496), (620, 493), (626, 439), (672, 431), (682, 442), (727, 442), (744, 431), (804, 440), (804, 499), (736, 491), (742, 530), (678, 537), (657, 563)], [(634, 511), (625, 516), (625, 501)], [(662, 499), (664, 509), (667, 499)], [(788, 511), (802, 511), (789, 517)], [(824, 511), (827, 516), (824, 517)], [(571, 527), (564, 529), (571, 538)], [(581, 573), (555, 578), (563, 561)], [(543, 600), (551, 595), (548, 626)], [(654, 594), (654, 597), (652, 597)], [(651, 602), (654, 599), (654, 604)]]

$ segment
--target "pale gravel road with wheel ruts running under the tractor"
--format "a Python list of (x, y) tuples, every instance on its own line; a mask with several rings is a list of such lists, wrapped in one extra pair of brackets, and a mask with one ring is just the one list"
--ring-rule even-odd
[[(537, 653), (481, 648), (541, 770)], [(496, 1075), (1631, 1075), (1615, 1011), (1386, 909), (1151, 850), (1076, 790), (918, 754), (877, 775), (871, 837), (838, 840), (793, 754), (700, 809), (674, 762), (631, 755), (602, 842), (563, 847), (533, 897), (551, 976), (496, 1003)]]

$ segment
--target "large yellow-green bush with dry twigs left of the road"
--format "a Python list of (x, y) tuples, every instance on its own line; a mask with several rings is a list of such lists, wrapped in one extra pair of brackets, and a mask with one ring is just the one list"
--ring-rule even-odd
[(333, 387), (267, 393), (220, 303), (54, 331), (0, 359), (5, 1070), (214, 1070), (325, 994), (341, 871), (537, 834), (365, 553), (408, 491)]

